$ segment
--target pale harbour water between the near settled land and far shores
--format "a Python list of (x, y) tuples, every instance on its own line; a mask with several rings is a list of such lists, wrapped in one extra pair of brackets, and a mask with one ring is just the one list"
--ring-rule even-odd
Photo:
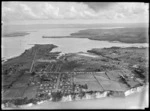
[(87, 38), (42, 38), (42, 36), (68, 36), (73, 32), (78, 32), (79, 30), (83, 29), (85, 28), (38, 29), (35, 31), (30, 31), (30, 34), (26, 36), (2, 37), (2, 58), (8, 59), (11, 57), (19, 56), (25, 51), (25, 49), (31, 48), (33, 44), (54, 44), (57, 45), (58, 48), (55, 48), (53, 51), (61, 51), (62, 53), (74, 53), (81, 51), (86, 52), (92, 48), (104, 48), (112, 46), (148, 46), (146, 43), (129, 44), (120, 42), (97, 41)]

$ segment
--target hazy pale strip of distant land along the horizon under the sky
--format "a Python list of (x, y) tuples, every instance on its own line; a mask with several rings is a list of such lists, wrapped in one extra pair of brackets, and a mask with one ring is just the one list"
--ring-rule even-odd
[(18, 32), (50, 28), (101, 28), (101, 27), (148, 27), (148, 23), (101, 23), (101, 24), (3, 24), (4, 32)]

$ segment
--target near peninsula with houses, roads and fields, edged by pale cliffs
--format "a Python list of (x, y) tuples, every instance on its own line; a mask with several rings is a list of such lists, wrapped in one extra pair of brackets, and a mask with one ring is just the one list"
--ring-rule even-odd
[(103, 48), (87, 53), (51, 52), (40, 45), (2, 64), (2, 104), (125, 97), (147, 83), (147, 48)]

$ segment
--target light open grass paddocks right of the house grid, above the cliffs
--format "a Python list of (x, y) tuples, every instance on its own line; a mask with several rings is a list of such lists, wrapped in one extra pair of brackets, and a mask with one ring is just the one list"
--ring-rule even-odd
[[(109, 73), (110, 79), (106, 76), (104, 72), (93, 73), (78, 73), (74, 77), (75, 84), (88, 85), (88, 91), (103, 91), (104, 90), (113, 90), (113, 91), (125, 91), (127, 87), (125, 84), (120, 83), (117, 78), (118, 74), (111, 72)], [(115, 78), (114, 78), (115, 77)], [(120, 85), (121, 84), (121, 85)], [(132, 83), (135, 84), (135, 83)]]

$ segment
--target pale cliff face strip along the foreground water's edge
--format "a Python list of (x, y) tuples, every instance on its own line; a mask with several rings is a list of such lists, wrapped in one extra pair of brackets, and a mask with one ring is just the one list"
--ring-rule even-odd
[[(124, 97), (115, 97), (115, 96), (108, 96), (107, 93), (104, 95), (104, 96), (101, 96), (101, 97), (94, 97), (94, 98), (90, 98), (90, 99), (87, 99), (87, 98), (83, 98), (83, 99), (75, 99), (75, 100), (61, 100), (61, 101), (57, 101), (57, 102), (53, 102), (50, 100), (43, 100), (43, 101), (38, 101), (37, 104), (33, 104), (33, 103), (29, 103), (29, 104), (24, 104), (24, 105), (19, 105), (19, 106), (14, 106), (14, 108), (17, 108), (17, 109), (24, 109), (24, 108), (30, 108), (30, 107), (37, 107), (37, 106), (40, 106), (42, 104), (47, 104), (47, 103), (51, 103), (51, 104), (63, 104), (63, 103), (72, 103), (72, 102), (86, 102), (86, 100), (89, 100), (89, 101), (93, 101), (93, 100), (105, 100), (105, 99), (126, 99), (127, 97), (130, 97), (130, 96), (134, 96), (136, 95), (137, 93), (140, 93), (140, 92), (143, 92), (143, 91), (148, 91), (149, 89), (149, 83), (147, 83), (146, 85), (143, 85), (143, 86), (139, 86), (139, 87), (135, 87), (135, 88), (131, 88), (129, 90), (126, 90), (124, 91), (124, 94), (125, 96)], [(105, 92), (108, 92), (108, 91), (104, 91)], [(118, 91), (119, 92), (119, 91)], [(11, 109), (11, 107), (5, 107), (3, 104), (1, 104), (1, 106), (3, 106), (2, 108), (6, 108), (6, 109)], [(12, 108), (12, 109), (14, 109)]]

